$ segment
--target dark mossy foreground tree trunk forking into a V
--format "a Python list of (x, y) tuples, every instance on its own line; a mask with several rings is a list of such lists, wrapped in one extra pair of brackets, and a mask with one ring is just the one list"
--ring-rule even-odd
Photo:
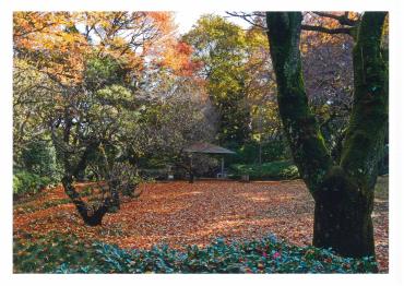
[(268, 12), (277, 102), (293, 157), (316, 201), (313, 245), (345, 257), (375, 257), (371, 212), (388, 122), (388, 76), (380, 39), (384, 12), (364, 13), (354, 48), (355, 92), (340, 165), (308, 106), (301, 71), (301, 13)]

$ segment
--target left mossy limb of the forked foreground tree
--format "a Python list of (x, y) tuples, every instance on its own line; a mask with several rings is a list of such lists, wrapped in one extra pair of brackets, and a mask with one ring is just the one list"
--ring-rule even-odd
[(299, 50), (301, 20), (299, 12), (266, 14), (282, 122), (294, 160), (316, 198), (332, 162), (305, 92)]

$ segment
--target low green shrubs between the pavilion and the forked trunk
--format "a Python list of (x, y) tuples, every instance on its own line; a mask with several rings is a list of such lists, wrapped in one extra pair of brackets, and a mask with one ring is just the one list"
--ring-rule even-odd
[(296, 179), (299, 178), (299, 171), (292, 160), (276, 160), (263, 163), (262, 165), (231, 165), (234, 176), (249, 175), (250, 179)]

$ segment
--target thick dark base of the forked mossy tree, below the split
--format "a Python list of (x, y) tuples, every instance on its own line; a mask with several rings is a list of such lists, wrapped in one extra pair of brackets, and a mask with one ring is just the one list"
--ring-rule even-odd
[(365, 194), (341, 167), (334, 167), (316, 198), (313, 245), (344, 257), (375, 257), (373, 193)]

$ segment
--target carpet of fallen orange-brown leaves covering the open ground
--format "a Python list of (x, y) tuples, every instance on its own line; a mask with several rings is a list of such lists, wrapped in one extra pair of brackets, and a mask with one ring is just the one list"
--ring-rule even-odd
[[(14, 236), (51, 230), (74, 233), (84, 239), (122, 248), (167, 243), (181, 249), (204, 246), (214, 238), (261, 238), (272, 233), (292, 243), (310, 245), (313, 200), (300, 180), (237, 182), (183, 181), (144, 183), (138, 199), (123, 199), (118, 213), (107, 214), (103, 226), (87, 227), (70, 203), (24, 213), (28, 205), (66, 199), (61, 187), (14, 205)], [(381, 272), (388, 272), (388, 199), (376, 199), (373, 224)]]

